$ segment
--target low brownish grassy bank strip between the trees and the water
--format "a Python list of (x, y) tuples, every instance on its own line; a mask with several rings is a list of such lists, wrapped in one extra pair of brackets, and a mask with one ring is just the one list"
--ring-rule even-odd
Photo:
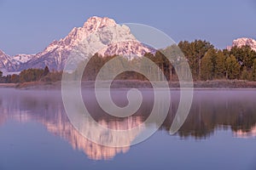
[[(73, 82), (70, 82), (71, 85)], [(212, 80), (212, 81), (195, 81), (194, 88), (209, 89), (232, 89), (232, 88), (256, 88), (256, 82), (242, 80)], [(94, 88), (94, 81), (81, 82), (82, 88)], [(178, 89), (179, 82), (169, 82), (171, 89)], [(17, 89), (60, 89), (61, 81), (58, 82), (23, 82), (23, 83), (0, 83), (0, 88), (17, 88)], [(152, 88), (150, 82), (137, 80), (114, 80), (111, 88)]]

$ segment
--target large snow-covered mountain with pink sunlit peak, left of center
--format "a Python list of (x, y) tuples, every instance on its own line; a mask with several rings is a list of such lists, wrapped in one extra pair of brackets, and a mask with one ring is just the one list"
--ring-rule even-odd
[(0, 53), (1, 71), (22, 71), (28, 68), (44, 68), (63, 70), (68, 57), (75, 52), (86, 56), (98, 53), (106, 55), (124, 55), (129, 59), (143, 56), (145, 53), (154, 53), (138, 42), (131, 34), (129, 27), (118, 25), (107, 17), (90, 17), (82, 27), (74, 27), (67, 37), (49, 44), (44, 51), (38, 54), (17, 54), (11, 57)]

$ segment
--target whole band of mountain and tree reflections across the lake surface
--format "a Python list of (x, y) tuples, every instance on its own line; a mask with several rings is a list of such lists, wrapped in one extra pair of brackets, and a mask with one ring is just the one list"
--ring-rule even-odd
[[(44, 124), (49, 133), (66, 139), (74, 150), (83, 150), (93, 160), (108, 160), (119, 153), (125, 153), (129, 147), (115, 148), (102, 146), (85, 139), (69, 122), (61, 101), (61, 92), (58, 91), (19, 91), (15, 89), (0, 89), (0, 126), (9, 120), (17, 122), (40, 122)], [(118, 92), (124, 93), (123, 91)], [(143, 105), (133, 116), (117, 118), (108, 116), (101, 108), (85, 99), (89, 110), (93, 112), (93, 118), (102, 126), (113, 129), (127, 129), (142, 124), (152, 109), (152, 94), (145, 91), (147, 98)], [(113, 96), (118, 105), (125, 105), (125, 98), (119, 99)], [(182, 139), (193, 137), (195, 139), (209, 138), (214, 130), (230, 128), (235, 137), (250, 137), (256, 135), (256, 92), (253, 90), (207, 90), (195, 91), (195, 99), (189, 112), (189, 116), (177, 135)], [(88, 98), (87, 98), (88, 99)], [(172, 92), (172, 105), (166, 121), (161, 126), (162, 130), (169, 133), (172, 120), (178, 106), (178, 91)], [(161, 111), (159, 111), (161, 114)], [(156, 117), (157, 118), (157, 117)], [(155, 122), (145, 126), (150, 128)], [(1, 127), (0, 127), (1, 128)], [(90, 132), (103, 140), (108, 140), (111, 134)], [(137, 132), (139, 133), (139, 132)], [(125, 138), (131, 143), (137, 137), (137, 133), (129, 134)]]

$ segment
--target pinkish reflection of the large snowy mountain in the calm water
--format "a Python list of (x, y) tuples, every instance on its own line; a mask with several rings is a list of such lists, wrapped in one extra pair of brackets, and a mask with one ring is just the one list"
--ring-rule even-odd
[[(81, 150), (92, 160), (109, 160), (119, 153), (125, 153), (130, 149), (130, 146), (124, 147), (109, 147), (101, 144), (103, 138), (110, 139), (108, 142), (118, 142), (121, 144), (130, 145), (140, 131), (127, 132), (126, 135), (117, 137), (115, 133), (110, 131), (101, 131), (95, 125), (95, 122), (84, 122), (84, 127), (88, 135), (93, 133), (96, 135), (97, 143), (90, 141), (80, 133), (73, 124), (69, 121), (64, 106), (61, 101), (61, 95), (58, 92), (48, 93), (37, 92), (37, 94), (23, 93), (21, 91), (10, 95), (9, 91), (2, 90), (0, 96), (0, 126), (9, 121), (15, 122), (40, 122), (49, 133), (67, 140), (72, 145), (73, 150)], [(29, 96), (29, 97), (28, 97)], [(86, 102), (91, 101), (86, 100)], [(32, 105), (27, 105), (27, 104)], [(42, 105), (44, 104), (44, 105)], [(19, 107), (17, 110), (15, 108)], [(95, 108), (98, 111), (100, 108), (93, 102), (90, 108)], [(145, 112), (145, 111), (144, 111)], [(115, 119), (111, 116), (103, 116), (97, 112), (96, 122), (101, 126), (114, 130), (125, 130), (143, 126), (142, 116), (129, 116), (123, 119)], [(119, 140), (114, 140), (119, 139)]]

